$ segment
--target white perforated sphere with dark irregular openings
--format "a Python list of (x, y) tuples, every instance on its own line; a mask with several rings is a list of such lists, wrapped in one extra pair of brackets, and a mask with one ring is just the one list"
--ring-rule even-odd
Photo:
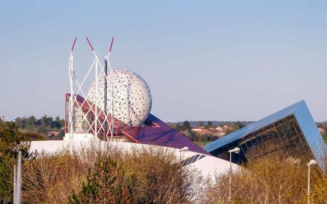
[[(112, 97), (113, 82), (113, 97)], [(147, 83), (136, 73), (126, 69), (113, 69), (107, 72), (107, 113), (111, 113), (113, 98), (113, 116), (125, 124), (141, 126), (148, 118), (152, 105), (151, 92)], [(90, 86), (87, 99), (104, 110), (104, 74)]]

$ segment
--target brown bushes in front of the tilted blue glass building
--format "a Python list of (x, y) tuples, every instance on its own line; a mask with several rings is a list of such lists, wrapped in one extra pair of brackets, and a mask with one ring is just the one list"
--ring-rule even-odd
[[(300, 159), (278, 155), (248, 162), (232, 172), (231, 203), (306, 203), (308, 167)], [(206, 181), (203, 203), (227, 203), (229, 175), (216, 174)], [(310, 203), (325, 203), (327, 176), (311, 167)]]

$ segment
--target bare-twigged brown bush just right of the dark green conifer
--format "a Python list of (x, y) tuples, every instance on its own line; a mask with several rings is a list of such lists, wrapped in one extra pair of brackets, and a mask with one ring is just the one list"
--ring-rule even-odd
[(197, 199), (198, 172), (181, 168), (174, 152), (162, 147), (134, 148), (125, 156), (136, 203), (189, 203)]

